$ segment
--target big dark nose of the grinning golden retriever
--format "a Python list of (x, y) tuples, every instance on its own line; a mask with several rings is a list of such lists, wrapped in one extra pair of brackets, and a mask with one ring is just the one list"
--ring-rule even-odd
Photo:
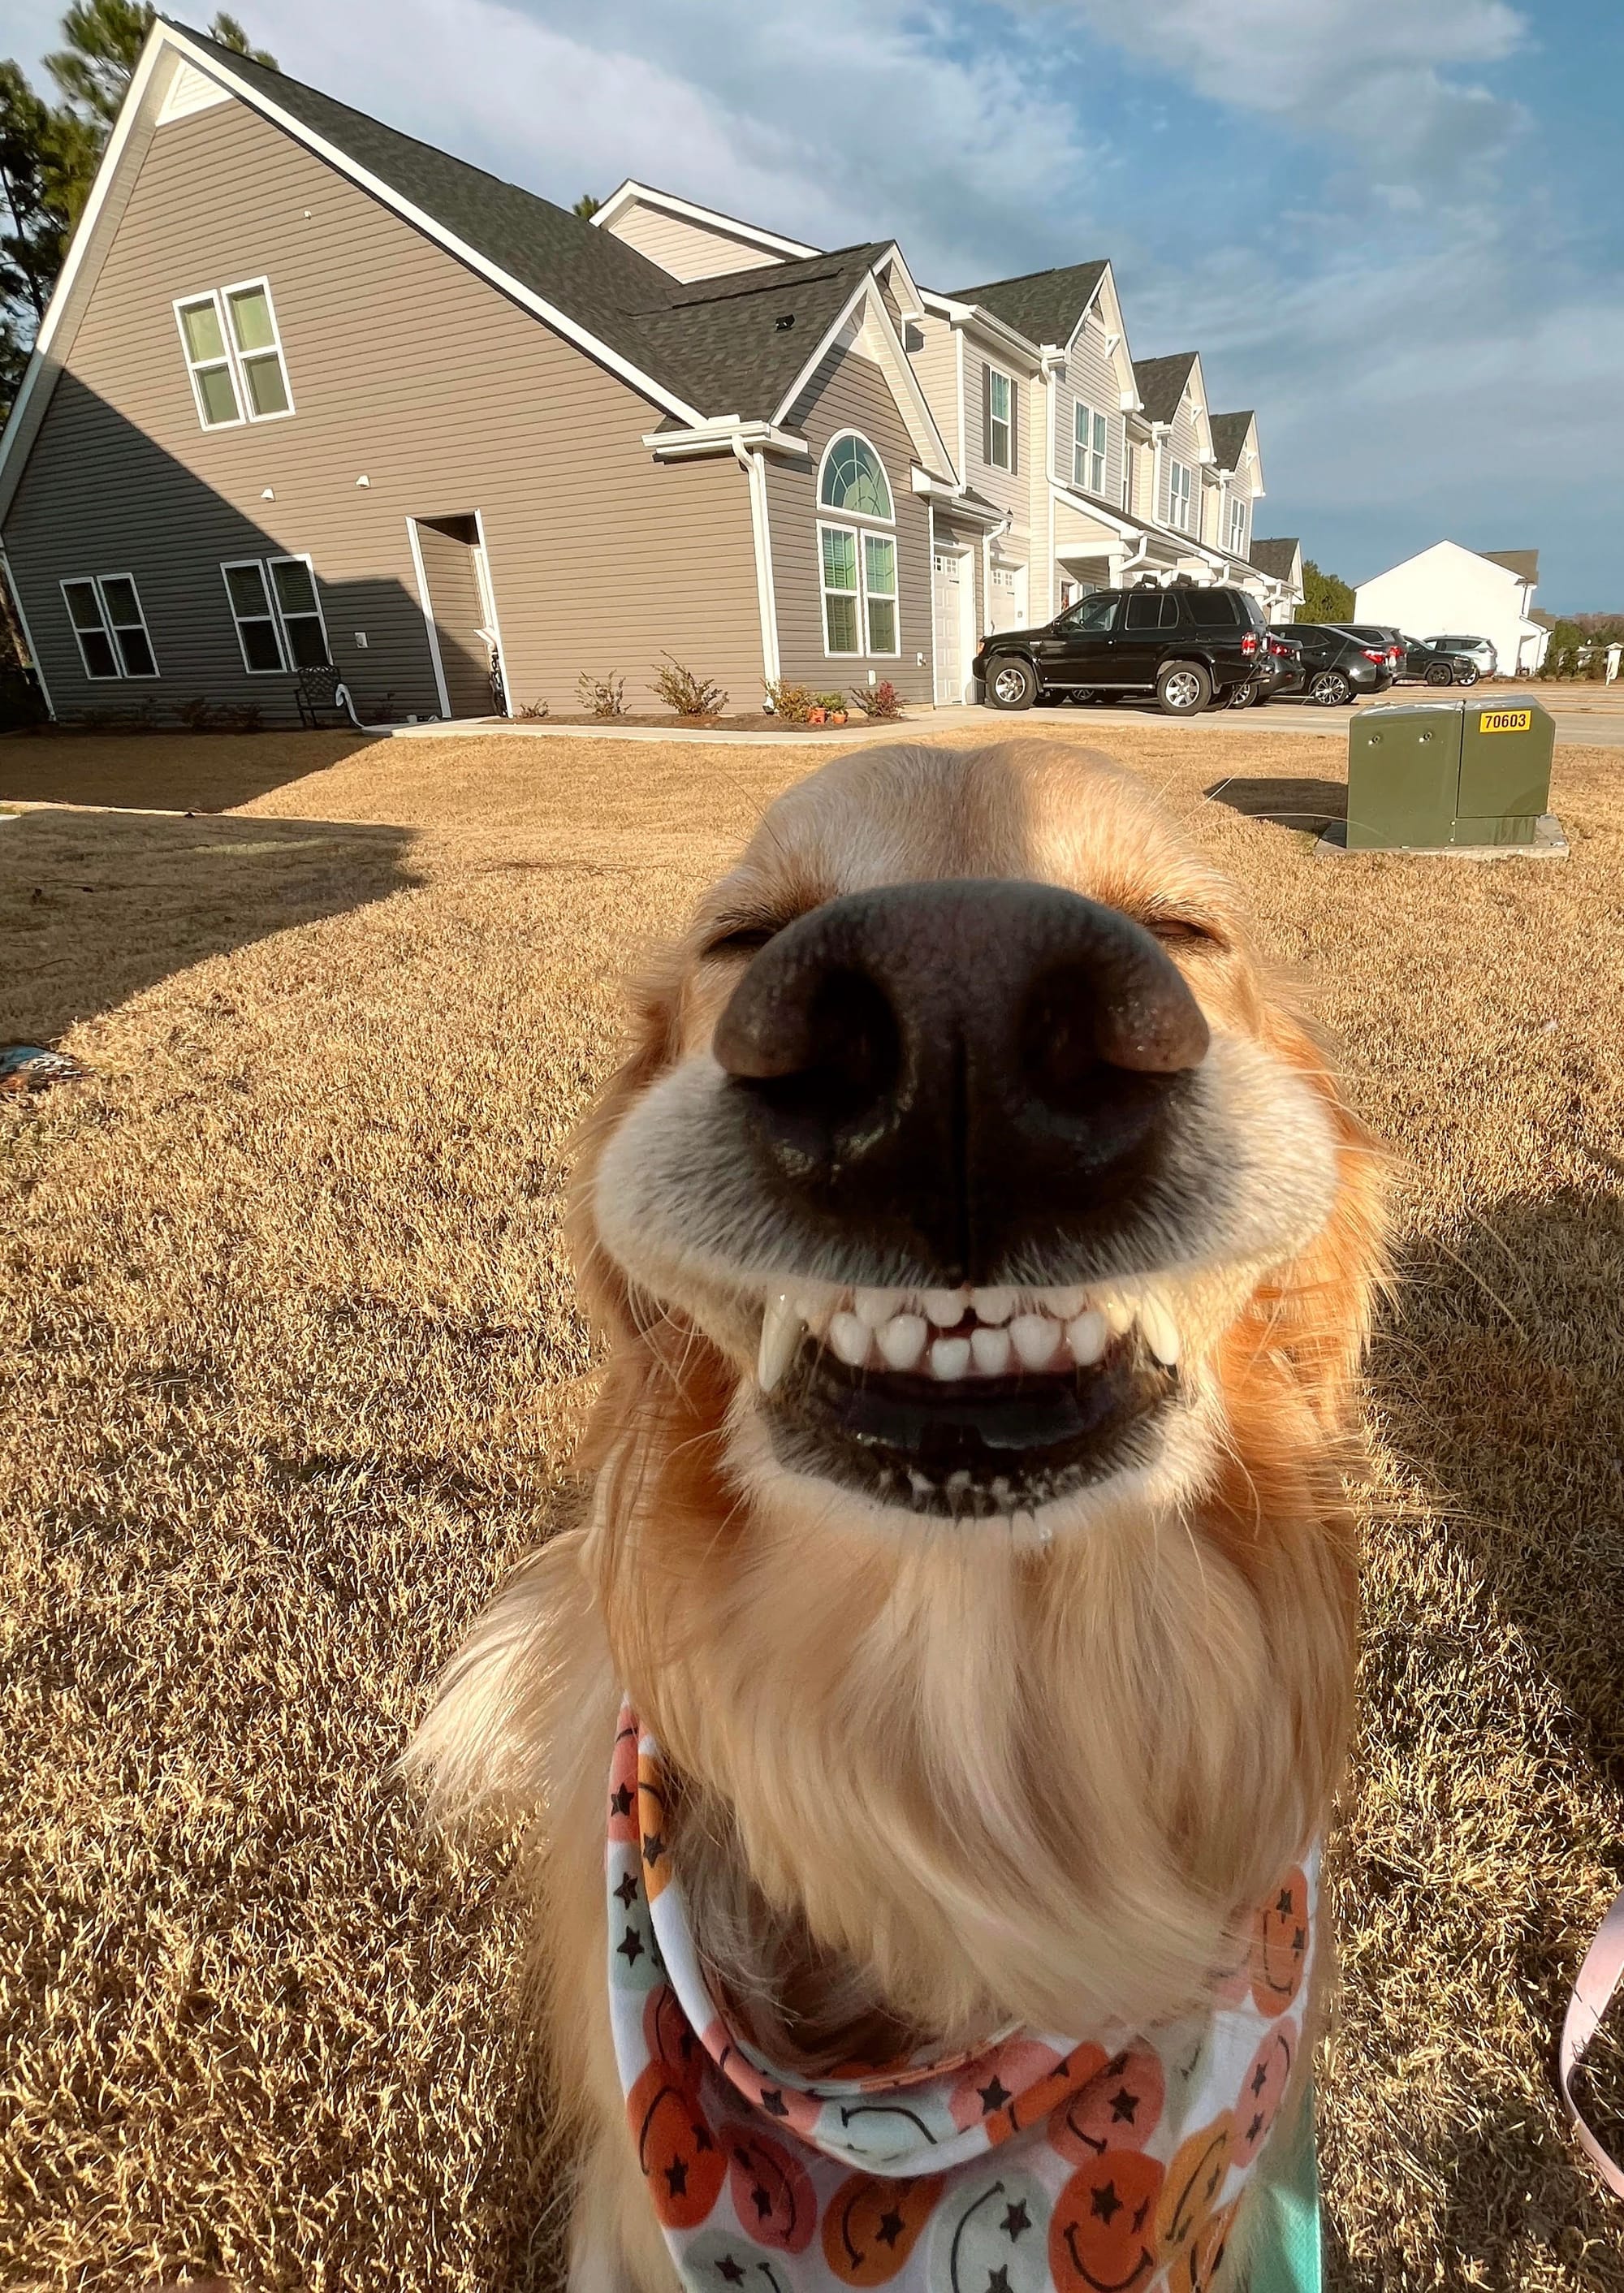
[(993, 1282), (1149, 1215), (1207, 1020), (1115, 908), (1044, 883), (904, 883), (768, 940), (713, 1050), (757, 1176), (807, 1241), (897, 1277)]

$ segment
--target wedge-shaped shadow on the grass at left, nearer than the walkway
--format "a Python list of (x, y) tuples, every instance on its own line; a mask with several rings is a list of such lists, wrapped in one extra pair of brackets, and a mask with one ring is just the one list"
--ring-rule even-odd
[(335, 821), (23, 812), (0, 823), (0, 1043), (55, 1043), (209, 956), (408, 890), (411, 842)]

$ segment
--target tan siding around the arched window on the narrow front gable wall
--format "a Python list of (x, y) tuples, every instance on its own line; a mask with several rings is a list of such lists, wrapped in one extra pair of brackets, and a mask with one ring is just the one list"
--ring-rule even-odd
[[(833, 349), (789, 410), (789, 429), (803, 431), (812, 452), (805, 461), (768, 461), (768, 523), (773, 530), (773, 587), (778, 594), (778, 654), (789, 683), (819, 692), (888, 676), (906, 702), (931, 702), (931, 514), (913, 493), (913, 438), (897, 410), (890, 383), (858, 351)], [(823, 447), (837, 431), (856, 429), (885, 463), (897, 514), (897, 635), (899, 656), (823, 651), (823, 576), (819, 564), (817, 475)], [(837, 518), (833, 523), (840, 523)], [(856, 523), (856, 521), (853, 521)], [(879, 527), (874, 527), (879, 530)], [(915, 656), (924, 656), (922, 660)]]

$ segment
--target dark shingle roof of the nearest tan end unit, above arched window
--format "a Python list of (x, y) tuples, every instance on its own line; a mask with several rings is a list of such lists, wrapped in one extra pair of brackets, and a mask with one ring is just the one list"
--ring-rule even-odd
[[(612, 232), (383, 126), (303, 80), (188, 41), (702, 415), (771, 415), (890, 241), (771, 271), (674, 280)], [(780, 319), (791, 326), (780, 326)]]

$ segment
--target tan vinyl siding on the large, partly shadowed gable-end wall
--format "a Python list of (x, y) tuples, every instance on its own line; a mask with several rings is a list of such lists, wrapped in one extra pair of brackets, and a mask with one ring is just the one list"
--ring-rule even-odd
[[(170, 305), (259, 275), (296, 413), (204, 431)], [(640, 440), (658, 420), (248, 105), (167, 124), (5, 521), (53, 702), (206, 695), (291, 722), (294, 681), (243, 672), (218, 566), (307, 550), (362, 715), (385, 695), (434, 713), (406, 525), (475, 509), (514, 706), (573, 709), (583, 670), (624, 674), (628, 704), (654, 704), (665, 649), (752, 699), (748, 482), (732, 456), (654, 463)], [(135, 576), (161, 686), (85, 679), (57, 582), (87, 571)]]

